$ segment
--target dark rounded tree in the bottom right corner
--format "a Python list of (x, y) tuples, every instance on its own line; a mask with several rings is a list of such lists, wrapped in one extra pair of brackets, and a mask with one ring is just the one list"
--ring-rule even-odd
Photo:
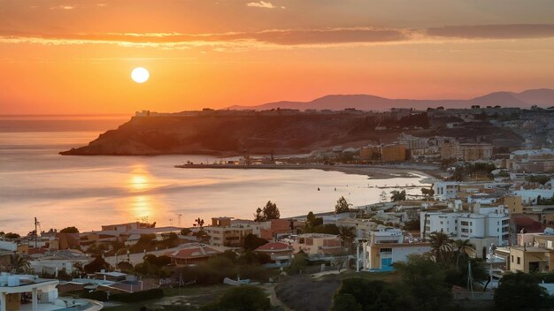
[[(495, 292), (495, 304), (499, 310), (529, 310), (546, 306), (548, 292), (527, 273), (509, 273), (500, 279)], [(550, 306), (552, 307), (552, 306)]]

